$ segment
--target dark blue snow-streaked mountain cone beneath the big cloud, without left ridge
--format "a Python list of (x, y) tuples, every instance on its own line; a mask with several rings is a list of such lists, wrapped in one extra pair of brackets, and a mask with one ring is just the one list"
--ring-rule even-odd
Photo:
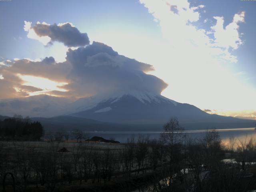
[(209, 124), (209, 126), (211, 124), (232, 124), (234, 126), (236, 123), (253, 122), (253, 120), (211, 115), (193, 105), (178, 103), (159, 94), (151, 93), (136, 92), (112, 96), (98, 103), (94, 102), (93, 105), (86, 105), (87, 100), (79, 102), (79, 109), (87, 107), (86, 110), (70, 115), (103, 122), (164, 124), (171, 117), (177, 117), (182, 124)]

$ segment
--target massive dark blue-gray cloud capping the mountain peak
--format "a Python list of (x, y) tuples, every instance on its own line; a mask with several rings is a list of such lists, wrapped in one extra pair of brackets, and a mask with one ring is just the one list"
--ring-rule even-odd
[(106, 92), (147, 91), (160, 94), (167, 84), (145, 72), (149, 64), (119, 55), (111, 47), (93, 42), (84, 48), (68, 50), (66, 62), (72, 65), (68, 90), (91, 95)]

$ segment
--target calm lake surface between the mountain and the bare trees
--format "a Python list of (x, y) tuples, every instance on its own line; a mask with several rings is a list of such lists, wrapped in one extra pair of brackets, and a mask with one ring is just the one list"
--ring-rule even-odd
[[(202, 138), (208, 130), (185, 130), (187, 137), (191, 138)], [(255, 138), (256, 139), (256, 130), (255, 128), (228, 128), (228, 129), (216, 129), (219, 132), (220, 138), (224, 143), (228, 142), (229, 138), (235, 137), (240, 140)], [(124, 143), (127, 141), (127, 138), (132, 138), (134, 136), (135, 141), (138, 139), (138, 136), (144, 135), (149, 136), (150, 139), (159, 138), (161, 131), (132, 131), (132, 132), (86, 132), (91, 138), (93, 136), (100, 136), (105, 139), (114, 138), (116, 141)]]

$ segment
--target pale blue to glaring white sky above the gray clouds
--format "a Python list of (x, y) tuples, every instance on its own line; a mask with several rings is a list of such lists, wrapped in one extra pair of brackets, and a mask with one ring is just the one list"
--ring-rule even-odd
[[(46, 56), (53, 56), (57, 61), (58, 59), (64, 61), (68, 48), (61, 42), (54, 43), (52, 46), (44, 46), (41, 42), (28, 38), (23, 27), (24, 21), (31, 22), (32, 26), (36, 22), (48, 24), (70, 22), (80, 32), (87, 33), (91, 43), (92, 41), (105, 43), (119, 54), (154, 66), (155, 71), (149, 74), (169, 84), (162, 93), (164, 96), (178, 102), (194, 104), (201, 109), (215, 110), (218, 114), (235, 116), (241, 115), (238, 111), (243, 111), (243, 113), (249, 111), (245, 116), (256, 115), (253, 99), (256, 92), (256, 54), (254, 53), (256, 1), (191, 0), (188, 1), (190, 3), (188, 9), (184, 8), (186, 0), (180, 2), (184, 2), (184, 5), (178, 5), (177, 0), (164, 3), (150, 0), (0, 1), (0, 62), (14, 58), (43, 59)], [(192, 10), (192, 7), (200, 5), (203, 6)], [(186, 11), (183, 16), (172, 14), (168, 18), (164, 15), (165, 12), (161, 11), (164, 6), (169, 6), (166, 9), (167, 12), (170, 12), (170, 6), (177, 8), (180, 13), (182, 10), (186, 9)], [(190, 8), (193, 13), (188, 12)], [(198, 13), (198, 18), (194, 12)], [(214, 17), (223, 17), (225, 29), (233, 22), (234, 15), (242, 12), (244, 21), (239, 22), (239, 28), (235, 30), (241, 42), (238, 47), (234, 48), (228, 44), (234, 43), (232, 39), (224, 42), (226, 37), (221, 36), (221, 30), (218, 28), (216, 29), (220, 31), (220, 38), (216, 45), (218, 46), (216, 49), (218, 61), (204, 56), (198, 62), (196, 59), (200, 56), (198, 51), (204, 50), (204, 47), (200, 49), (203, 43), (197, 44), (197, 41), (216, 39), (212, 28), (216, 25)], [(195, 16), (194, 21), (189, 20), (190, 16)], [(186, 31), (186, 26), (179, 23), (184, 19), (185, 25), (194, 28), (187, 28), (188, 31)], [(205, 30), (205, 34), (208, 32), (206, 38), (192, 39), (196, 42), (192, 42), (191, 47), (187, 42), (179, 44), (179, 40), (199, 38), (200, 31), (197, 31), (199, 29)], [(190, 32), (195, 34), (188, 34)], [(193, 50), (197, 48), (198, 51), (193, 54)], [(202, 55), (205, 54), (209, 52), (202, 53)], [(220, 58), (223, 54), (234, 56), (236, 61)], [(211, 65), (208, 63), (204, 65), (206, 61), (209, 61)], [(225, 82), (225, 85), (222, 82)], [(246, 96), (243, 97), (243, 95)], [(248, 97), (248, 95), (251, 96)], [(245, 100), (246, 104), (243, 107), (242, 103)], [(233, 105), (238, 105), (237, 103), (240, 106), (235, 108)]]

